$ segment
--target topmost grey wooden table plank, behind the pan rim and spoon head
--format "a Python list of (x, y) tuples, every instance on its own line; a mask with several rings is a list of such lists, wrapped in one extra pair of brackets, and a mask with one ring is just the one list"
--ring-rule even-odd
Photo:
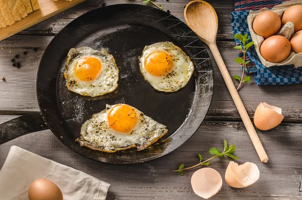
[[(170, 0), (167, 2), (166, 0), (157, 0), (157, 4), (161, 4), (163, 6), (163, 10), (169, 10), (172, 15), (176, 16), (182, 21), (184, 19), (184, 6), (190, 1), (188, 0)], [(212, 1), (212, 6), (215, 8), (218, 16), (218, 35), (217, 40), (228, 38), (233, 40), (232, 28), (231, 26), (225, 26), (225, 24), (230, 24), (231, 18), (230, 13), (234, 11), (234, 2), (233, 1), (224, 1), (221, 4), (219, 1)], [(54, 35), (58, 33), (64, 26), (66, 26), (73, 19), (81, 16), (82, 14), (91, 11), (95, 8), (102, 7), (103, 4), (106, 6), (114, 5), (114, 4), (142, 4), (140, 0), (110, 0), (110, 1), (86, 1), (81, 5), (75, 6), (67, 11), (60, 13), (44, 22), (33, 26), (20, 34), (47, 34)], [(150, 4), (144, 4), (151, 6)]]

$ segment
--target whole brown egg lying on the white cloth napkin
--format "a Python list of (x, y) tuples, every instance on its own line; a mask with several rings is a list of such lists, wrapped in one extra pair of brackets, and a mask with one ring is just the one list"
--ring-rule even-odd
[(39, 178), (28, 189), (29, 200), (63, 200), (60, 188), (51, 180)]

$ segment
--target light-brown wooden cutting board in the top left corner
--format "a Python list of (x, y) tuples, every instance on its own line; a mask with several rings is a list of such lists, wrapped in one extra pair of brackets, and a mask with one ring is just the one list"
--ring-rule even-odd
[(0, 28), (0, 41), (85, 1), (72, 0), (72, 2), (69, 2), (59, 0), (54, 2), (52, 0), (39, 0), (41, 10), (30, 13), (26, 18), (11, 26)]

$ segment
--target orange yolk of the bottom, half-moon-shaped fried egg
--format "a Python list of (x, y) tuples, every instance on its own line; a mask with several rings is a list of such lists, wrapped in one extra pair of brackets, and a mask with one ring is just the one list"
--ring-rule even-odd
[(135, 109), (129, 105), (116, 105), (108, 113), (109, 125), (118, 132), (128, 132), (135, 126), (136, 120)]

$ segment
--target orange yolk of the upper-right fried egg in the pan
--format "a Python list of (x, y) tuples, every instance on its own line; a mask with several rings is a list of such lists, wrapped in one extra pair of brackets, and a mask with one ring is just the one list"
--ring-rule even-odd
[(145, 69), (154, 76), (163, 76), (172, 69), (171, 56), (163, 51), (155, 51), (146, 56), (144, 61)]

